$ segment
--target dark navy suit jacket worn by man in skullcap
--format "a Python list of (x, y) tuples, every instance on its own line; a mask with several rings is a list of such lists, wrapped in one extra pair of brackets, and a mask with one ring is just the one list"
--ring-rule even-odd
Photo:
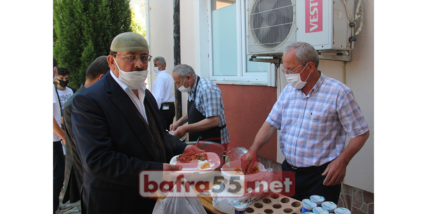
[[(161, 170), (156, 142), (143, 126), (142, 115), (125, 91), (106, 76), (73, 99), (74, 140), (84, 168), (82, 214), (152, 213), (156, 200), (139, 195), (139, 173)], [(163, 119), (149, 90), (144, 106), (150, 108), (159, 130)], [(181, 154), (186, 143), (160, 131), (166, 158)]]

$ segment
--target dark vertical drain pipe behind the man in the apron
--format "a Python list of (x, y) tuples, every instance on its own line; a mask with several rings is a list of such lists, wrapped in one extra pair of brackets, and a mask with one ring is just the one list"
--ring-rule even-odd
[[(181, 64), (180, 56), (180, 0), (174, 0), (174, 66)], [(174, 83), (176, 97), (176, 121), (182, 116), (181, 92)]]

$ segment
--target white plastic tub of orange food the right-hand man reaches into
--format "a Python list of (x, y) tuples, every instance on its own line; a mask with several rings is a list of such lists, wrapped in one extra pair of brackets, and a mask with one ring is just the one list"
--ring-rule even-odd
[[(246, 182), (254, 182), (256, 180), (262, 180), (263, 176), (265, 175), (264, 174), (265, 166), (262, 163), (256, 162), (254, 166), (257, 166), (259, 168), (258, 173), (254, 173), (251, 175), (234, 175), (234, 174), (231, 174), (231, 172), (234, 172), (236, 167), (241, 169), (241, 160), (235, 160), (235, 161), (230, 161), (228, 163), (225, 163), (223, 167), (221, 167), (221, 176), (223, 176), (223, 182), (228, 187), (233, 183), (234, 186), (232, 187), (232, 189), (239, 186), (238, 189), (234, 189), (236, 190), (234, 191), (234, 193), (238, 195), (244, 194)], [(230, 181), (233, 181), (233, 182), (230, 182)]]

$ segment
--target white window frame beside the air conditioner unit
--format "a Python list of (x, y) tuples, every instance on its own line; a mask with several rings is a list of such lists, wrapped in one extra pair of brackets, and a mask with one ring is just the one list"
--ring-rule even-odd
[[(213, 36), (212, 36), (212, 11), (211, 0), (194, 1), (195, 20), (195, 64), (201, 76), (208, 77), (218, 84), (234, 85), (261, 85), (275, 86), (275, 66), (270, 64), (267, 72), (246, 72), (247, 71), (247, 51), (246, 51), (246, 1), (236, 0), (236, 26), (237, 33), (241, 37), (237, 38), (237, 68), (236, 76), (214, 76), (213, 73)], [(244, 9), (244, 10), (243, 10)], [(207, 66), (208, 65), (208, 66)]]

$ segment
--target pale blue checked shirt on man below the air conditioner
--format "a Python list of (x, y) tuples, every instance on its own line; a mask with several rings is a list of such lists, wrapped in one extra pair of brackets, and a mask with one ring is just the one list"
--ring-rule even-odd
[(319, 72), (308, 95), (287, 85), (267, 116), (266, 122), (280, 130), (280, 149), (292, 166), (334, 160), (343, 150), (346, 134), (354, 138), (369, 130), (352, 90)]

